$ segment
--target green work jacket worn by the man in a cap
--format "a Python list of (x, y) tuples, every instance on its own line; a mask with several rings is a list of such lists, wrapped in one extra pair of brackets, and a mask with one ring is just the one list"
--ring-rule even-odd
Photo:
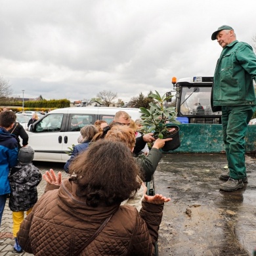
[(255, 105), (256, 56), (250, 45), (233, 41), (224, 47), (217, 62), (213, 106)]

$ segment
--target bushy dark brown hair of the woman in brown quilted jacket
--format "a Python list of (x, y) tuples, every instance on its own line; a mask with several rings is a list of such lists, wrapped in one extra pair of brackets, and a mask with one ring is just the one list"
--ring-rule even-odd
[(97, 140), (70, 164), (77, 178), (77, 196), (89, 206), (115, 205), (133, 198), (140, 188), (139, 165), (122, 142)]

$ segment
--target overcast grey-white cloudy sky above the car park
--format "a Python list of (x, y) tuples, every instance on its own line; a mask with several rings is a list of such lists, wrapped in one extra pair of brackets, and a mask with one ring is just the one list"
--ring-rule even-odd
[[(213, 76), (228, 24), (253, 43), (255, 0), (0, 0), (0, 75), (13, 95), (128, 102), (171, 77)], [(117, 99), (116, 99), (117, 100)]]

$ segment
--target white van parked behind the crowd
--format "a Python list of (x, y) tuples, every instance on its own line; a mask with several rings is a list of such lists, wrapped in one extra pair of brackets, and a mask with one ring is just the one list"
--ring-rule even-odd
[(66, 162), (66, 152), (76, 145), (81, 127), (94, 124), (97, 119), (110, 123), (116, 112), (123, 110), (133, 120), (140, 118), (139, 108), (60, 108), (30, 125), (28, 143), (35, 150), (34, 161)]

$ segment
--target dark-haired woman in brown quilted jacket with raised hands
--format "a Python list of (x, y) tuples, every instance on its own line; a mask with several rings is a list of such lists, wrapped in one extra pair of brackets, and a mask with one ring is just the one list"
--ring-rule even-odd
[(140, 188), (129, 148), (98, 140), (75, 158), (70, 171), (72, 177), (43, 194), (21, 224), (22, 249), (37, 256), (152, 255), (170, 198), (145, 195), (140, 212), (120, 206)]

